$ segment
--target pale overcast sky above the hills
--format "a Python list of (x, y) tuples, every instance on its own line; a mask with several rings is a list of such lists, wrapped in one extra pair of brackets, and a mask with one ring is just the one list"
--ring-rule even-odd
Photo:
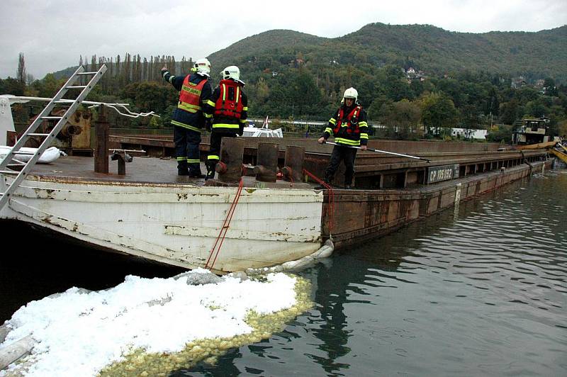
[(196, 59), (266, 30), (333, 38), (374, 22), (539, 31), (567, 24), (567, 1), (0, 0), (0, 78), (16, 76), (19, 52), (40, 79), (77, 64), (79, 55)]

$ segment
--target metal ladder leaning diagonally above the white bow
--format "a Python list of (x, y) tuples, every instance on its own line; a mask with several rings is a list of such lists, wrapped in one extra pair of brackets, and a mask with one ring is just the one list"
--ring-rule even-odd
[[(53, 99), (47, 103), (47, 106), (43, 108), (43, 111), (38, 115), (37, 118), (31, 123), (25, 133), (23, 133), (22, 137), (16, 145), (14, 145), (11, 151), (6, 155), (6, 158), (0, 163), (0, 179), (3, 182), (0, 182), (0, 211), (6, 206), (8, 203), (9, 198), (13, 191), (20, 186), (21, 181), (26, 179), (26, 176), (33, 168), (40, 155), (50, 147), (52, 140), (57, 136), (63, 126), (67, 123), (67, 119), (69, 119), (73, 113), (77, 110), (81, 102), (85, 99), (85, 97), (89, 94), (91, 89), (93, 89), (94, 85), (99, 82), (102, 75), (106, 72), (106, 64), (103, 64), (98, 71), (96, 72), (84, 72), (84, 67), (79, 66), (77, 71), (69, 77), (67, 82), (62, 86), (62, 88), (55, 94)], [(84, 76), (91, 76), (91, 79), (86, 85), (76, 85), (77, 79), (84, 77)], [(69, 89), (81, 89), (81, 93), (77, 96), (76, 99), (63, 99), (64, 95), (67, 94)], [(51, 111), (55, 108), (56, 105), (70, 105), (67, 108), (62, 116), (50, 116)], [(35, 133), (35, 130), (38, 129), (39, 125), (43, 122), (43, 120), (57, 120), (57, 124), (55, 127), (50, 131), (50, 133)], [(26, 142), (29, 140), (31, 136), (35, 137), (44, 137), (43, 142), (41, 143), (38, 150), (35, 152), (20, 152), (21, 147), (26, 145)], [(16, 159), (16, 154), (28, 154), (31, 158), (28, 162), (21, 162)], [(10, 167), (23, 167), (20, 171), (7, 169)], [(16, 178), (8, 183), (6, 181), (6, 175), (15, 175)]]

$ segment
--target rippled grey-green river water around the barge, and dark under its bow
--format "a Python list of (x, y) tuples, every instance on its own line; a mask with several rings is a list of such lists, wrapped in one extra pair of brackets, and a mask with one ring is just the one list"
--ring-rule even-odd
[[(65, 256), (69, 245), (48, 257), (45, 240), (34, 238), (32, 257), (1, 264), (1, 320), (70, 286), (179, 272), (86, 249), (84, 259), (71, 264), (69, 254), (56, 266), (52, 254)], [(567, 171), (341, 250), (301, 276), (313, 283), (315, 308), (215, 366), (173, 375), (567, 376)]]

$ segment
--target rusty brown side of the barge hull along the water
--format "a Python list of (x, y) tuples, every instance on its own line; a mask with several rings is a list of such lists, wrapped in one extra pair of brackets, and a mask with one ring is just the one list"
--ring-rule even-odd
[[(340, 249), (369, 238), (386, 235), (408, 223), (438, 213), (481, 193), (530, 176), (533, 171), (550, 169), (551, 161), (521, 164), (510, 169), (488, 171), (461, 179), (423, 186), (413, 190), (335, 190), (335, 221), (332, 239)], [(325, 195), (323, 213), (327, 213)], [(329, 237), (329, 218), (323, 216), (322, 231)]]

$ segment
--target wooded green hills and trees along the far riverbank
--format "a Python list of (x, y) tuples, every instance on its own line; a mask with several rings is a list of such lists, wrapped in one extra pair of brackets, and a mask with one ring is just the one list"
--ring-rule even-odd
[[(538, 33), (470, 34), (370, 24), (332, 39), (271, 30), (209, 59), (213, 85), (222, 67), (240, 67), (254, 118), (325, 121), (344, 89), (354, 86), (380, 137), (447, 138), (451, 128), (462, 128), (485, 129), (489, 140), (507, 142), (523, 118), (545, 116), (552, 135), (567, 134), (567, 73), (564, 64), (553, 64), (567, 59), (564, 37), (567, 26)], [(134, 111), (162, 116), (116, 118), (115, 126), (152, 128), (170, 127), (177, 101), (159, 70), (167, 65), (174, 74), (187, 74), (193, 64), (185, 57), (130, 54), (79, 57), (79, 63), (89, 70), (108, 66), (89, 100), (129, 102)], [(30, 80), (18, 67), (16, 79), (0, 80), (0, 93), (51, 96), (72, 71)]]

